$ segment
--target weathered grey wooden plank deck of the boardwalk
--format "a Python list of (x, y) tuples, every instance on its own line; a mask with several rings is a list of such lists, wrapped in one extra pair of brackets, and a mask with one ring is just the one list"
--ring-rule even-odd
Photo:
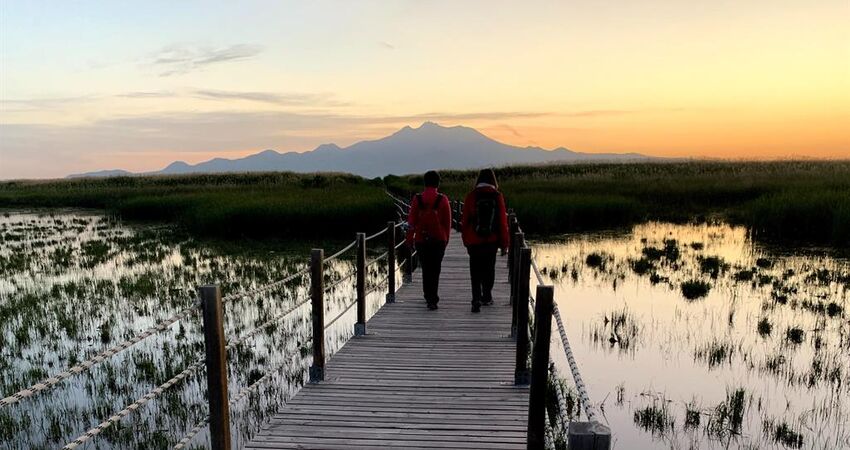
[(252, 449), (524, 449), (528, 388), (515, 387), (516, 344), (504, 258), (494, 305), (470, 312), (466, 250), (452, 235), (429, 311), (419, 273), (248, 443)]

